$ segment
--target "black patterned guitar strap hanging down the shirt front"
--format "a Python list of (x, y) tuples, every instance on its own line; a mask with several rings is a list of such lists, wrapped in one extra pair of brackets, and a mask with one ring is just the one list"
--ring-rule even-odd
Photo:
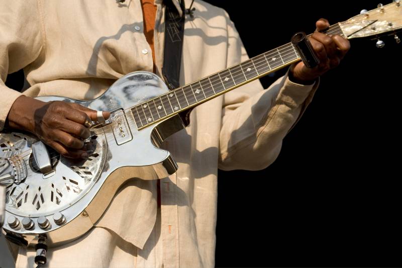
[[(184, 1), (180, 1), (182, 16), (178, 13), (172, 0), (165, 0), (165, 44), (163, 48), (162, 75), (169, 90), (180, 86), (180, 63), (184, 36)], [(187, 126), (191, 109), (181, 112), (179, 115)]]

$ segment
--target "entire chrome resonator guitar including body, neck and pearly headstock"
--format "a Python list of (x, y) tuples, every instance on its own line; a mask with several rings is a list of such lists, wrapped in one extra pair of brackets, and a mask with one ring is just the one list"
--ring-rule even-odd
[[(390, 34), (400, 43), (396, 33), (402, 29), (401, 18), (398, 0), (332, 25), (324, 33), (347, 39)], [(377, 46), (383, 42), (377, 41)], [(38, 98), (110, 111), (111, 117), (90, 128), (91, 137), (84, 142), (94, 150), (80, 160), (60, 156), (29, 133), (0, 133), (7, 238), (21, 245), (35, 245), (44, 234), (50, 245), (78, 238), (102, 216), (127, 180), (157, 180), (177, 170), (170, 153), (159, 146), (184, 128), (178, 113), (297, 62), (299, 54), (288, 43), (171, 92), (155, 74), (138, 71), (92, 101)]]

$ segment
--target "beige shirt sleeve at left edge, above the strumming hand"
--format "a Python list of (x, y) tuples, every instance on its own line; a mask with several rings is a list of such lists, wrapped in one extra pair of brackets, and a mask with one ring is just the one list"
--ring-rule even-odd
[(5, 85), (8, 73), (32, 63), (43, 47), (39, 2), (7, 1), (0, 9), (0, 130), (22, 94)]

